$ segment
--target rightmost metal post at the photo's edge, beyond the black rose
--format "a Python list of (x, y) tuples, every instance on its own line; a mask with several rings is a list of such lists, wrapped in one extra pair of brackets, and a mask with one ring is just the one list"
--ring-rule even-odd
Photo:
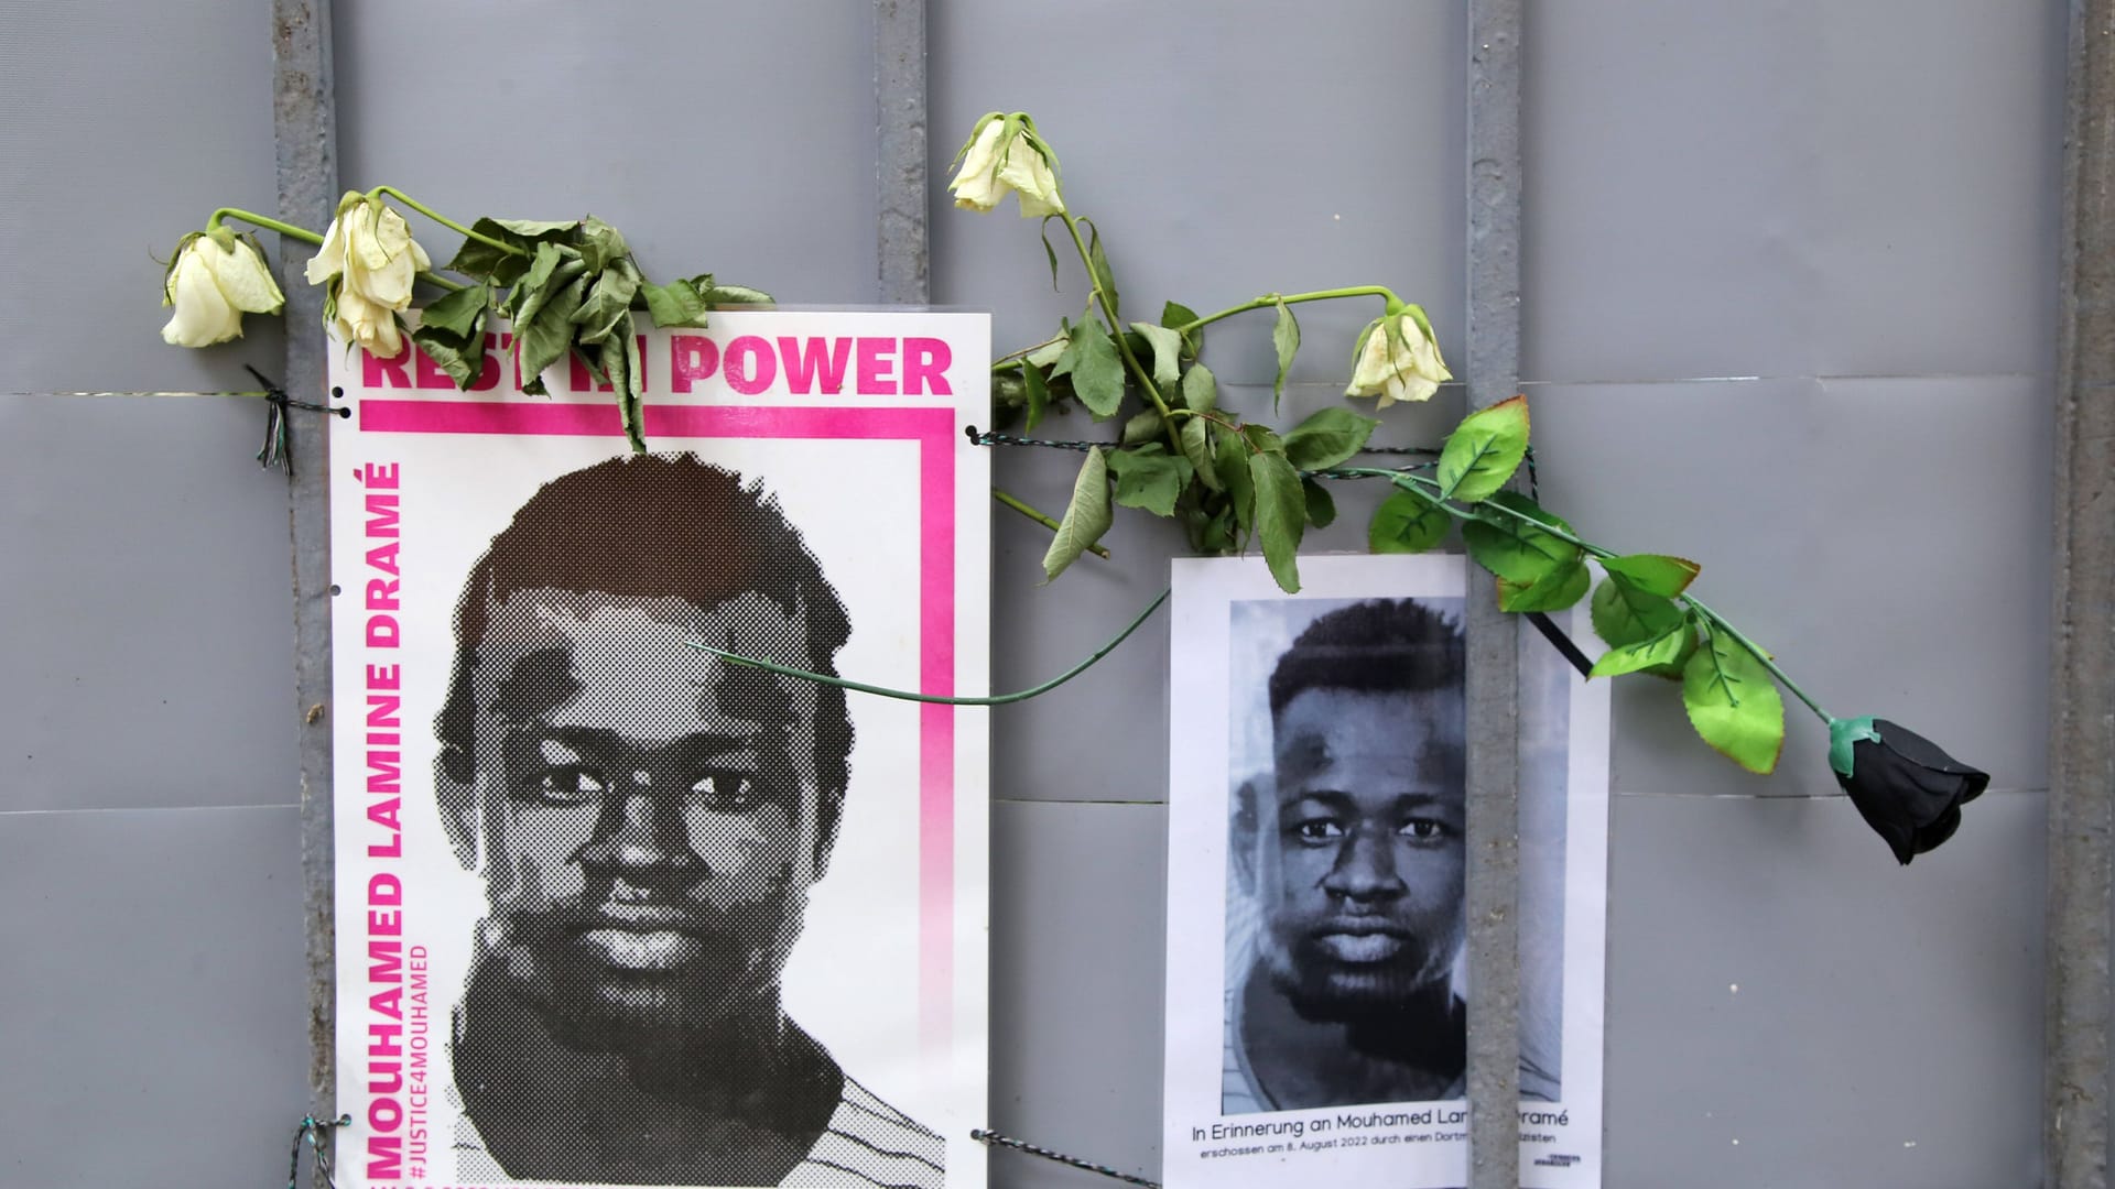
[(2066, 123), (2041, 1126), (2049, 1183), (2100, 1189), (2115, 925), (2115, 0), (2071, 4)]

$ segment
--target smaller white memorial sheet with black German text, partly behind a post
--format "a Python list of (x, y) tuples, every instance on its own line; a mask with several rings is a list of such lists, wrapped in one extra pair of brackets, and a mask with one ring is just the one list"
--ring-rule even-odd
[[(1457, 1187), (1470, 578), (1301, 580), (1174, 563), (1163, 1181)], [(1521, 1185), (1576, 1189), (1601, 1183), (1607, 683), (1521, 630)]]

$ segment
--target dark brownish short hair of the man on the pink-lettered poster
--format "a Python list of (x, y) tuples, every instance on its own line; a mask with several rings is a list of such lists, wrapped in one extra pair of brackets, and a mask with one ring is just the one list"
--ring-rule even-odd
[[(744, 487), (738, 474), (687, 453), (626, 455), (563, 474), (493, 537), (455, 605), (455, 673), (434, 721), (450, 781), (476, 779), (472, 671), (491, 611), (537, 588), (675, 597), (700, 609), (755, 590), (806, 626), (806, 669), (833, 677), (835, 654), (852, 635), (838, 590), (761, 480)], [(816, 683), (814, 694), (819, 840), (829, 840), (850, 779), (852, 721), (844, 690)]]

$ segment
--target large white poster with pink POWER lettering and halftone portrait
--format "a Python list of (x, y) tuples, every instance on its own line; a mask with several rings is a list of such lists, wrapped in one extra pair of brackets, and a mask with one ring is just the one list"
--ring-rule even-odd
[[(332, 362), (338, 1185), (983, 1185), (983, 315)], [(334, 349), (336, 353), (336, 349)]]

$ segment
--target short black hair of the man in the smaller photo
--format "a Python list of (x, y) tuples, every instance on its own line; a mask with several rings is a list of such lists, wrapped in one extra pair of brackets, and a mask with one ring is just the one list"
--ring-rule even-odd
[(1339, 607), (1292, 641), (1271, 669), (1271, 721), (1305, 690), (1417, 694), (1457, 688), (1466, 673), (1461, 626), (1413, 599)]

